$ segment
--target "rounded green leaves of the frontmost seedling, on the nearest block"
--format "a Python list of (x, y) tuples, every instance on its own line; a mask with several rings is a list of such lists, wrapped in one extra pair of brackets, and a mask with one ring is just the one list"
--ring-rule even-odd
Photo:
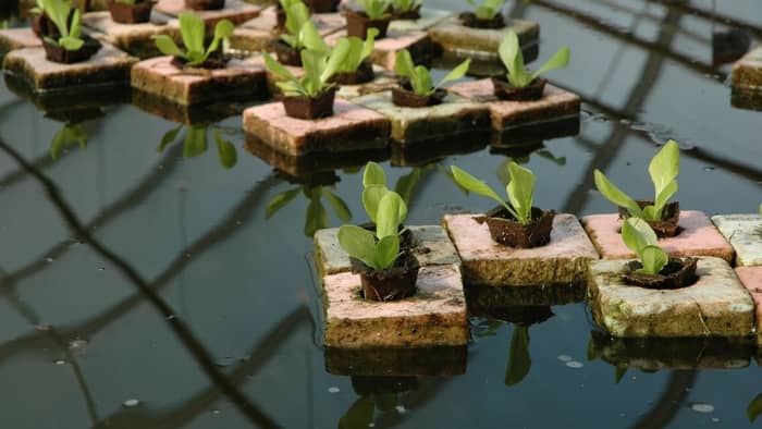
[(379, 201), (376, 233), (356, 225), (344, 225), (339, 229), (339, 244), (349, 256), (373, 270), (386, 270), (401, 255), (402, 232), (398, 230), (404, 221), (402, 212), (407, 212), (405, 201), (400, 194), (390, 191)]

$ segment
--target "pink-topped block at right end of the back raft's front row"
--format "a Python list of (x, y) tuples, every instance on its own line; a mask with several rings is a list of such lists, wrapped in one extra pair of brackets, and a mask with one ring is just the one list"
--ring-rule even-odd
[(447, 90), (469, 100), (487, 103), (492, 128), (497, 132), (579, 118), (579, 96), (553, 85), (546, 85), (542, 98), (532, 101), (499, 100), (493, 94), (491, 79), (466, 82), (451, 86)]

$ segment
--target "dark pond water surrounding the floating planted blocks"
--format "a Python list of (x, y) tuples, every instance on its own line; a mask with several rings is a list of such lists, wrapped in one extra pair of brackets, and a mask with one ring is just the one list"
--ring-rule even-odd
[[(539, 177), (539, 206), (611, 211), (593, 191), (594, 168), (628, 193), (649, 195), (648, 161), (668, 138), (685, 149), (683, 207), (713, 214), (759, 206), (760, 113), (733, 108), (729, 65), (712, 66), (712, 33), (728, 27), (661, 3), (508, 5), (514, 16), (541, 23), (541, 60), (570, 45), (572, 64), (550, 77), (586, 100), (578, 136), (521, 155)], [(762, 17), (754, 0), (717, 3), (717, 14), (736, 21)], [(711, 10), (710, 1), (687, 5)], [(368, 380), (324, 369), (305, 230), (322, 217), (339, 225), (345, 216), (316, 184), (364, 220), (360, 172), (288, 183), (244, 149), (239, 122), (213, 127), (237, 150), (231, 169), (221, 167), (211, 138), (208, 150), (183, 158), (188, 128), (130, 105), (108, 106), (75, 127), (74, 135), (86, 133), (86, 149), (73, 139), (53, 162), (62, 122), (0, 88), (0, 137), (51, 179), (86, 233), (170, 307), (157, 311), (120, 267), (66, 226), (39, 182), (0, 155), (1, 427), (246, 428), (253, 419), (288, 428), (752, 426), (747, 407), (762, 391), (751, 381), (759, 377), (752, 351), (691, 343), (679, 348), (687, 361), (709, 354), (737, 369), (664, 369), (662, 348), (643, 353), (600, 335), (585, 304), (554, 306), (552, 317), (529, 327), (475, 318), (465, 375), (402, 378), (385, 392), (359, 395)], [(176, 139), (157, 151), (174, 130)], [(457, 163), (497, 185), (505, 160), (482, 149), (422, 168), (383, 166), (391, 183), (419, 179), (408, 223), (430, 224), (447, 211), (491, 206), (459, 192), (444, 169)], [(293, 199), (266, 219), (268, 201), (285, 192)], [(173, 331), (181, 322), (259, 414), (247, 417), (210, 381), (198, 353)], [(518, 334), (528, 348), (511, 351)]]

